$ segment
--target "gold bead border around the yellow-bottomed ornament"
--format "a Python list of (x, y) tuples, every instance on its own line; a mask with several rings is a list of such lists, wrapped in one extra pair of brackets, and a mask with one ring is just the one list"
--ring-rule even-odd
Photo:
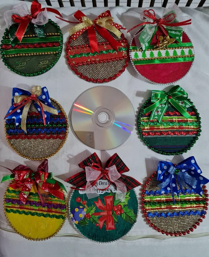
[[(11, 183), (12, 183), (13, 181), (14, 181), (14, 180), (12, 180)], [(9, 185), (10, 185), (11, 183), (9, 183)], [(8, 185), (7, 189), (9, 189), (9, 185)], [(6, 217), (7, 221), (8, 221), (8, 223), (9, 223), (9, 225), (11, 226), (11, 228), (12, 228), (17, 234), (19, 234), (20, 236), (22, 236), (22, 237), (24, 237), (24, 238), (26, 238), (26, 239), (28, 239), (28, 240), (31, 240), (31, 241), (43, 241), (43, 240), (46, 240), (46, 239), (49, 239), (49, 238), (55, 236), (55, 235), (62, 229), (62, 227), (63, 227), (63, 225), (64, 225), (64, 223), (65, 223), (65, 221), (66, 221), (66, 219), (67, 219), (67, 216), (68, 216), (67, 197), (66, 197), (66, 195), (65, 195), (65, 193), (64, 193), (64, 191), (63, 191), (62, 188), (61, 188), (61, 191), (64, 193), (64, 196), (65, 196), (65, 200), (64, 200), (64, 201), (65, 201), (65, 205), (66, 205), (66, 211), (65, 211), (64, 220), (62, 221), (62, 223), (61, 223), (59, 229), (58, 229), (57, 231), (55, 231), (54, 234), (52, 234), (51, 236), (47, 236), (47, 237), (45, 237), (45, 238), (39, 238), (39, 239), (37, 239), (37, 238), (35, 239), (35, 238), (30, 238), (30, 237), (24, 236), (23, 234), (21, 234), (20, 232), (18, 232), (18, 231), (12, 226), (12, 224), (11, 224), (9, 218), (7, 217), (7, 212), (6, 212), (5, 199), (6, 199), (6, 195), (7, 195), (7, 189), (6, 189), (5, 194), (4, 194), (4, 215), (5, 215), (5, 217)]]

